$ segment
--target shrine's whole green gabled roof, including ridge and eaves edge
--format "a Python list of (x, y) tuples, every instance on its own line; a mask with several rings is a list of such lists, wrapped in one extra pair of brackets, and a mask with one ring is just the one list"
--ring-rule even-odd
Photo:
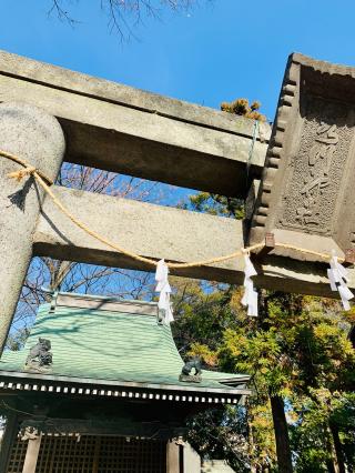
[[(247, 375), (203, 371), (201, 383), (180, 382), (183, 360), (170, 326), (158, 323), (156, 315), (155, 303), (58, 294), (51, 304), (39, 308), (24, 349), (2, 355), (0, 378), (62, 381), (71, 386), (85, 384), (85, 389), (105, 385), (111, 390), (200, 392), (217, 397), (247, 393)], [(50, 372), (33, 373), (26, 368), (29, 351), (39, 338), (51, 342)]]

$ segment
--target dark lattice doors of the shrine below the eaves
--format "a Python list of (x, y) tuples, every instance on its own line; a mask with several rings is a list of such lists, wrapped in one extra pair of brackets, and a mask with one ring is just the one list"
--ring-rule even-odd
[[(18, 439), (7, 473), (22, 473), (28, 442)], [(166, 442), (122, 436), (43, 435), (37, 473), (165, 473)]]

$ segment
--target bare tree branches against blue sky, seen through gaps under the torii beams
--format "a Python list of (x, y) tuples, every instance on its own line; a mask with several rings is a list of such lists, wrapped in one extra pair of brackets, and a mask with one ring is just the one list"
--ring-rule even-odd
[[(164, 200), (164, 191), (156, 182), (78, 164), (63, 163), (58, 183), (71, 189), (104, 193), (112, 198), (130, 198), (154, 203)], [(51, 291), (151, 300), (153, 276), (151, 273), (141, 271), (34, 258), (23, 284), (12, 324), (11, 339), (9, 339), (11, 346), (18, 346), (17, 340), (22, 343), (39, 304), (48, 300), (49, 295), (43, 288)]]

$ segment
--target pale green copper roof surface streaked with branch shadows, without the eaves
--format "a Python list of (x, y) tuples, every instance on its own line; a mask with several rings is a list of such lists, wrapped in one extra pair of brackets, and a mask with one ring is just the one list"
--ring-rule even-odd
[[(123, 303), (125, 312), (122, 303), (120, 311), (112, 310), (113, 305), (105, 310), (97, 306), (57, 305), (51, 311), (51, 304), (41, 305), (24, 349), (2, 355), (0, 374), (26, 372), (29, 350), (44, 338), (52, 345), (51, 375), (191, 386), (179, 381), (183, 361), (170, 326), (156, 321), (155, 304)], [(140, 313), (134, 313), (136, 308)], [(235, 380), (239, 375), (203, 371), (203, 381), (193, 388), (234, 390), (219, 382), (229, 378)]]

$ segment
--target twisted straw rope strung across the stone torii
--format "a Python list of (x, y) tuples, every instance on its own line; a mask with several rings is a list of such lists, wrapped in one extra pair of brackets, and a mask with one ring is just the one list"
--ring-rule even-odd
[[(100, 241), (101, 243), (105, 244), (106, 246), (112, 248), (113, 250), (118, 251), (119, 253), (122, 253), (129, 258), (132, 258), (135, 261), (141, 261), (142, 263), (150, 264), (153, 266), (156, 266), (158, 261), (152, 260), (150, 258), (141, 256), (140, 254), (133, 253), (129, 250), (125, 250), (124, 248), (118, 245), (116, 243), (105, 239), (100, 233), (95, 232), (94, 230), (91, 230), (85, 223), (81, 222), (75, 215), (73, 215), (68, 208), (55, 197), (53, 191), (50, 189), (50, 185), (53, 184), (53, 181), (49, 179), (45, 174), (43, 174), (40, 170), (31, 165), (29, 162), (27, 162), (24, 159), (17, 157), (16, 154), (11, 154), (7, 151), (0, 150), (0, 155), (7, 159), (10, 159), (11, 161), (17, 162), (18, 164), (22, 165), (24, 169), (21, 169), (20, 171), (11, 172), (8, 174), (9, 178), (16, 179), (20, 181), (26, 175), (33, 175), (36, 181), (41, 185), (41, 188), (44, 190), (44, 192), (52, 199), (53, 203), (58, 207), (58, 209), (63, 212), (77, 227), (82, 229), (85, 233), (93, 236), (95, 240)], [(223, 256), (216, 256), (211, 258), (209, 260), (202, 260), (202, 261), (193, 261), (191, 263), (166, 263), (169, 268), (171, 269), (183, 269), (183, 268), (197, 268), (197, 266), (204, 266), (207, 264), (213, 263), (220, 263), (222, 261), (232, 260), (234, 258), (242, 256), (244, 254), (248, 254), (255, 250), (261, 250), (265, 246), (265, 243), (257, 243), (253, 244), (251, 246), (243, 248), (241, 250), (235, 251), (234, 253), (230, 253)], [(313, 254), (315, 256), (322, 258), (324, 260), (329, 260), (332, 258), (331, 254), (327, 253), (320, 253), (317, 251), (307, 250), (303, 248), (295, 246), (293, 244), (286, 244), (286, 243), (275, 243), (275, 246), (284, 248), (287, 250), (295, 250), (301, 253), (305, 254)], [(341, 259), (339, 259), (341, 260)], [(343, 259), (344, 261), (344, 259)]]

